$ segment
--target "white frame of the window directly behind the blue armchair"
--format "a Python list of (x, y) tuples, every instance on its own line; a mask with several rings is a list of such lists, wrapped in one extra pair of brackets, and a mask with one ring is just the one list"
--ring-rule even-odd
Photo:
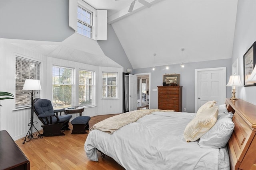
[[(66, 66), (60, 66), (60, 65), (52, 65), (52, 79), (53, 79), (53, 68), (54, 67), (58, 67), (58, 68), (66, 68), (66, 69), (71, 69), (71, 106), (74, 106), (74, 91), (75, 91), (75, 81), (74, 81), (74, 77), (75, 77), (75, 74), (74, 74), (74, 71), (75, 71), (75, 68), (72, 68), (72, 67), (66, 67)], [(52, 104), (53, 104), (53, 107), (54, 108), (61, 108), (61, 107), (55, 107), (54, 106), (54, 92), (53, 92), (53, 86), (54, 85), (58, 85), (58, 84), (54, 84), (53, 80), (52, 80)], [(68, 85), (68, 84), (60, 84), (60, 85)], [(63, 108), (63, 107), (62, 107)]]

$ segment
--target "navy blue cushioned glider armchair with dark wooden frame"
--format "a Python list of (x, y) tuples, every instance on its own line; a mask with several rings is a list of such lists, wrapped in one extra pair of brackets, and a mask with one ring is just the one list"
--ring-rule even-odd
[[(33, 109), (39, 120), (43, 123), (42, 128), (44, 133), (41, 136), (65, 135), (63, 132), (70, 130), (68, 128), (68, 122), (72, 115), (66, 114), (64, 109), (54, 110), (50, 100), (34, 99)], [(56, 115), (58, 112), (60, 112), (60, 115)], [(61, 115), (62, 112), (65, 114)]]

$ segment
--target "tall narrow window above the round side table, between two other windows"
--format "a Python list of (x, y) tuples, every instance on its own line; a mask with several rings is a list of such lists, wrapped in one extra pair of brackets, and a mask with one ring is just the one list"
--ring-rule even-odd
[(94, 72), (79, 70), (79, 106), (94, 106)]

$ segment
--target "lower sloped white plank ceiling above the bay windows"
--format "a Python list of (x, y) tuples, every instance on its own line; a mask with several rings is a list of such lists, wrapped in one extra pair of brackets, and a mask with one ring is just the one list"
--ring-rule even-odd
[[(122, 68), (118, 63), (105, 56), (98, 43), (92, 39), (74, 33), (62, 42), (32, 41), (18, 39), (4, 39), (29, 51), (36, 51), (48, 57), (75, 61), (78, 63)], [(86, 44), (86, 45), (85, 45)]]

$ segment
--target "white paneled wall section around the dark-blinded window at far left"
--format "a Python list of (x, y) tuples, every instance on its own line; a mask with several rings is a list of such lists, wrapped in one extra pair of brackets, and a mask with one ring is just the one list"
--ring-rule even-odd
[[(46, 63), (46, 57), (23, 49), (9, 43), (8, 40), (0, 41), (0, 91), (10, 92), (15, 95), (15, 59), (16, 55), (41, 63)], [(41, 82), (44, 80), (45, 69), (41, 68)], [(28, 91), (29, 92), (29, 91)], [(44, 90), (41, 91), (44, 96)], [(0, 107), (0, 130), (6, 130), (14, 140), (24, 137), (29, 129), (28, 123), (31, 117), (31, 109), (15, 109), (15, 100), (2, 100)], [(35, 117), (35, 121), (38, 118)], [(40, 122), (35, 125), (41, 129)]]

